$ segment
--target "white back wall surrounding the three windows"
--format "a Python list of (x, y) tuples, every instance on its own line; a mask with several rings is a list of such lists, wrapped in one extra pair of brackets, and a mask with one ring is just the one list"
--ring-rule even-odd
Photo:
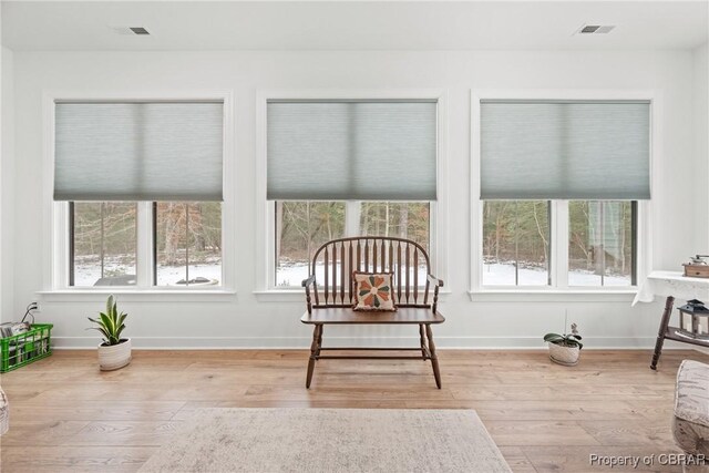
[[(17, 52), (14, 163), (14, 310), (42, 289), (42, 92), (233, 90), (236, 96), (237, 295), (201, 302), (123, 304), (127, 333), (141, 346), (306, 347), (309, 330), (299, 322), (305, 301), (257, 300), (256, 92), (258, 89), (444, 89), (450, 189), (446, 288), (441, 310), (448, 321), (435, 330), (442, 347), (540, 347), (547, 331), (562, 330), (564, 311), (579, 323), (589, 347), (651, 346), (661, 307), (630, 308), (631, 297), (615, 301), (472, 302), (470, 287), (470, 90), (612, 89), (657, 90), (661, 95), (662, 145), (656, 150), (660, 185), (654, 189), (655, 268), (680, 269), (706, 227), (687, 222), (706, 215), (687, 185), (697, 168), (692, 136), (690, 51), (666, 52)], [(706, 109), (706, 105), (705, 105)], [(705, 155), (706, 156), (706, 155)], [(6, 233), (7, 227), (3, 227)], [(84, 331), (88, 315), (102, 307), (94, 298), (44, 296), (41, 319), (55, 325), (60, 346), (93, 346)], [(411, 330), (412, 340), (415, 330)], [(401, 337), (391, 328), (332, 329), (345, 338)], [(384, 340), (383, 338), (378, 340)], [(392, 340), (387, 340), (391, 342)], [(393, 340), (401, 341), (401, 340)]]

